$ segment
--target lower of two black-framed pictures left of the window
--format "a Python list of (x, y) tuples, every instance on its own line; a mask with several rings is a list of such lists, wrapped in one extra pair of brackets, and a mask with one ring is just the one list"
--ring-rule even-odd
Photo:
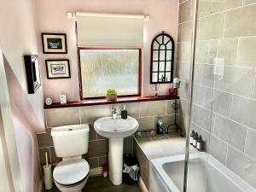
[(70, 78), (69, 60), (45, 60), (48, 79)]

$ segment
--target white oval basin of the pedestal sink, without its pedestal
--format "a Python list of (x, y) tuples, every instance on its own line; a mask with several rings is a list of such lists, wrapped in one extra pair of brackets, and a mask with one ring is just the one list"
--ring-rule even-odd
[(137, 119), (128, 117), (127, 119), (112, 119), (103, 117), (94, 123), (95, 131), (102, 137), (124, 138), (129, 137), (137, 131)]

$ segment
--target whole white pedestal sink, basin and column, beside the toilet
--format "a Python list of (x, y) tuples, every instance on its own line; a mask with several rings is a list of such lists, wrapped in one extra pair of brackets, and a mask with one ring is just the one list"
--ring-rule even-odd
[(131, 136), (137, 128), (137, 120), (129, 116), (127, 119), (103, 117), (94, 123), (95, 131), (102, 137), (109, 138), (109, 178), (115, 185), (122, 183), (124, 137)]

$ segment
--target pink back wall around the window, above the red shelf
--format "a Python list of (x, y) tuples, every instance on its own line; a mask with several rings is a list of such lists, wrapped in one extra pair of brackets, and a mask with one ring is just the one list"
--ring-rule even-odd
[[(45, 64), (42, 66), (44, 97), (59, 101), (61, 93), (67, 93), (69, 101), (79, 100), (79, 71), (76, 50), (75, 26), (67, 12), (84, 11), (113, 14), (150, 15), (144, 24), (143, 49), (143, 95), (153, 95), (154, 85), (149, 84), (150, 44), (155, 35), (165, 31), (177, 42), (177, 4), (178, 0), (36, 0), (39, 32), (67, 33), (67, 55), (43, 55), (45, 59), (68, 58), (71, 65), (71, 79), (47, 79)], [(38, 33), (38, 43), (41, 37)], [(39, 51), (42, 53), (42, 46)], [(166, 94), (170, 84), (160, 85), (160, 93)]]

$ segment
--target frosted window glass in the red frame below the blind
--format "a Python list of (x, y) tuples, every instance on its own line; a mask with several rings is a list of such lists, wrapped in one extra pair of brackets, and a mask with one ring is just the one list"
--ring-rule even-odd
[(80, 49), (83, 97), (138, 94), (138, 49)]

